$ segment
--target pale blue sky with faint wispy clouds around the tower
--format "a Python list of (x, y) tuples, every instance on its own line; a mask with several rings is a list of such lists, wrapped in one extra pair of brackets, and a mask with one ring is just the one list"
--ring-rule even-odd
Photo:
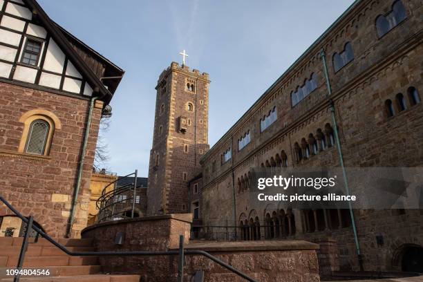
[(39, 0), (48, 15), (123, 68), (107, 167), (147, 177), (158, 75), (172, 61), (209, 73), (212, 146), (353, 0)]

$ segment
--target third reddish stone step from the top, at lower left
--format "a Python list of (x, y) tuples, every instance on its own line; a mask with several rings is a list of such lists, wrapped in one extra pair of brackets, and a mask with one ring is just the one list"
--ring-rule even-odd
[[(18, 259), (19, 256), (0, 256), (0, 267), (16, 267)], [(97, 262), (97, 256), (26, 256), (23, 266), (97, 265)]]

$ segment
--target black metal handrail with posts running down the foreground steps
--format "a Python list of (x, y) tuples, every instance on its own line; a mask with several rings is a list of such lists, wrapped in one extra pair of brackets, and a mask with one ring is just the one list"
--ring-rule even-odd
[[(176, 255), (178, 255), (179, 256), (179, 260), (178, 260), (178, 282), (182, 282), (182, 279), (183, 279), (183, 267), (184, 267), (186, 255), (205, 256), (205, 257), (207, 257), (207, 259), (210, 259), (210, 260), (214, 261), (215, 263), (218, 263), (218, 265), (225, 267), (230, 272), (234, 272), (238, 276), (241, 276), (243, 279), (250, 281), (250, 282), (256, 282), (250, 276), (247, 276), (247, 274), (244, 274), (243, 272), (236, 270), (231, 265), (228, 265), (227, 263), (220, 261), (220, 259), (216, 258), (216, 256), (212, 256), (211, 254), (209, 254), (205, 251), (185, 250), (184, 249), (184, 236), (182, 236), (182, 235), (180, 236), (180, 245), (179, 245), (178, 251), (71, 252), (68, 249), (66, 249), (66, 247), (64, 247), (64, 245), (57, 243), (57, 241), (55, 241), (55, 239), (48, 236), (48, 234), (43, 232), (39, 227), (32, 225), (32, 223), (33, 223), (33, 217), (32, 216), (29, 216), (29, 218), (26, 218), (25, 216), (23, 216), (21, 213), (19, 213), (17, 211), (17, 209), (15, 209), (15, 207), (12, 207), (12, 205), (10, 205), (10, 203), (8, 203), (8, 201), (5, 198), (3, 198), (3, 196), (0, 196), (0, 200), (1, 200), (1, 202), (4, 203), (4, 205), (6, 205), (6, 207), (8, 207), (8, 209), (10, 209), (16, 216), (21, 218), (21, 220), (24, 223), (26, 223), (26, 232), (25, 232), (25, 236), (23, 236), (21, 252), (20, 252), (20, 255), (19, 255), (18, 263), (17, 263), (17, 270), (18, 271), (17, 271), (17, 274), (15, 275), (15, 279), (14, 279), (15, 282), (19, 282), (19, 278), (20, 278), (19, 270), (21, 270), (22, 267), (23, 267), (23, 261), (25, 260), (25, 254), (26, 254), (26, 251), (28, 250), (28, 238), (29, 238), (29, 234), (30, 234), (32, 229), (34, 229), (35, 232), (37, 232), (37, 238), (38, 238), (38, 234), (39, 234), (41, 237), (46, 238), (47, 241), (49, 241), (50, 243), (52, 243), (53, 245), (58, 247), (60, 250), (62, 250), (63, 252), (65, 252), (69, 256), (176, 256)], [(37, 242), (37, 238), (35, 239), (35, 242)]]

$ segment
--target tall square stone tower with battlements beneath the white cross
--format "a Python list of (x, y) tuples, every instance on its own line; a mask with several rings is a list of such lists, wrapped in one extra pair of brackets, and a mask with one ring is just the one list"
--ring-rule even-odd
[(209, 149), (209, 75), (172, 62), (156, 86), (147, 214), (188, 212), (188, 183)]

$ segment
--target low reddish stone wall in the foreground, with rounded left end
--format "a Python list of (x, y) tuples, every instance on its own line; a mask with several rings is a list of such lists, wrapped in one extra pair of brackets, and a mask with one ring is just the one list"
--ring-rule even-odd
[[(185, 234), (185, 250), (205, 250), (256, 281), (320, 281), (316, 244), (304, 241), (188, 243), (189, 221), (191, 215), (187, 214), (118, 220), (87, 227), (82, 237), (93, 238), (99, 251), (166, 251), (178, 250), (179, 235)], [(123, 245), (114, 243), (118, 232), (124, 232)], [(185, 258), (184, 281), (191, 281), (200, 270), (205, 272), (205, 281), (244, 281), (204, 256)], [(178, 273), (178, 256), (109, 256), (100, 257), (100, 263), (105, 272), (140, 274), (142, 282), (176, 281)]]

